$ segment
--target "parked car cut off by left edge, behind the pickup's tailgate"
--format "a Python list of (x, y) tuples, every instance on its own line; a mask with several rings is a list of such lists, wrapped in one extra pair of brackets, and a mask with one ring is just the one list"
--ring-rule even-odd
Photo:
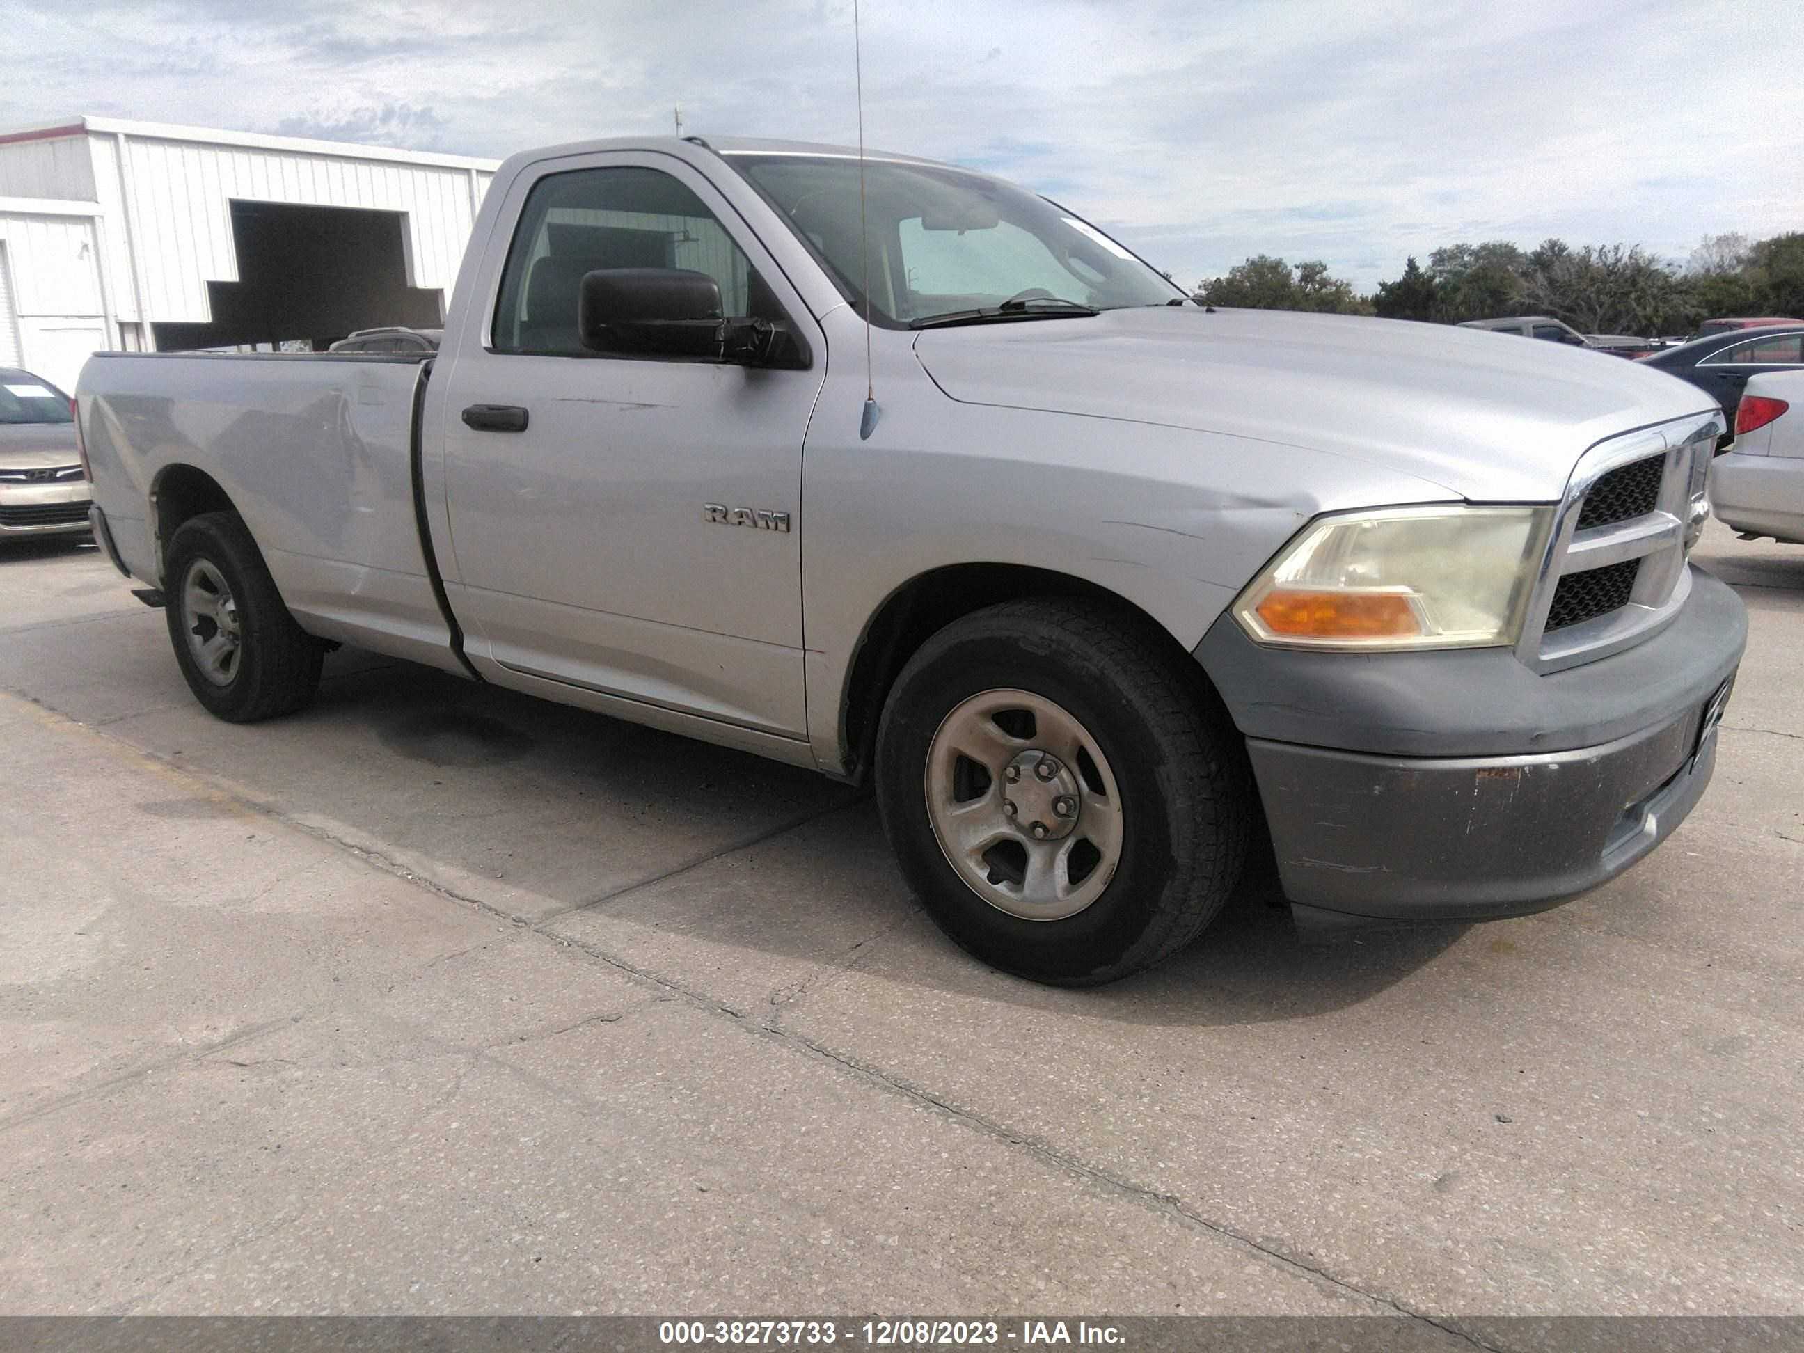
[(69, 395), (43, 377), (0, 366), (0, 536), (88, 529)]

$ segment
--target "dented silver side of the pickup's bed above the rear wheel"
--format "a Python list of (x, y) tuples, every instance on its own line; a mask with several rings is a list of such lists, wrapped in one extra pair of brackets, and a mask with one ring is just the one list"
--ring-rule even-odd
[(238, 507), (289, 610), (321, 639), (462, 671), (422, 536), (429, 354), (97, 354), (81, 377), (96, 502), (123, 563), (161, 586), (146, 503)]

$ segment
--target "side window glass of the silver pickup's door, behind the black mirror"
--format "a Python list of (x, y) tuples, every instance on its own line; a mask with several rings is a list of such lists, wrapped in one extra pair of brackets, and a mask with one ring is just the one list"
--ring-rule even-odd
[(752, 292), (763, 290), (714, 213), (662, 170), (552, 173), (532, 186), (514, 229), (494, 307), (494, 350), (581, 355), (577, 287), (584, 272), (608, 267), (705, 272), (720, 285), (729, 318), (750, 314)]

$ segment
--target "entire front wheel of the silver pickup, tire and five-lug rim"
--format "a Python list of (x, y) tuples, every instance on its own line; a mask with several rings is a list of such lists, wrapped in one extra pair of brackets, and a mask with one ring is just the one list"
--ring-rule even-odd
[(1095, 985), (1216, 916), (1252, 781), (1201, 673), (1084, 601), (992, 606), (929, 639), (884, 707), (877, 796), (922, 904), (983, 962)]

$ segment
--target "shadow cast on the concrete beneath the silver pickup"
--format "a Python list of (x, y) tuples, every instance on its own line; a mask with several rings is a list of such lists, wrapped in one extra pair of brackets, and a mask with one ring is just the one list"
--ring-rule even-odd
[[(707, 954), (740, 954), (725, 960), (732, 981), (767, 990), (857, 962), (898, 999), (916, 989), (1131, 1023), (1250, 1023), (1362, 1001), (1458, 934), (1304, 943), (1272, 906), (1266, 873), (1162, 969), (1050, 990), (943, 940), (902, 884), (870, 799), (806, 770), (359, 649), (330, 655), (310, 709), (251, 727), (193, 705), (161, 624), (43, 630), (0, 667), (11, 687), (307, 830), (523, 924), (581, 922), (584, 943), (682, 981)], [(92, 689), (70, 686), (72, 669)], [(119, 693), (135, 711), (115, 709)]]

